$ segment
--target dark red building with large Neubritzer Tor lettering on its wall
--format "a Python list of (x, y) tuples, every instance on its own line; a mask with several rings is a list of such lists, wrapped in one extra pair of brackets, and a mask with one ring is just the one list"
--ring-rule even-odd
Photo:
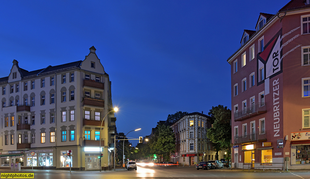
[(255, 30), (244, 30), (227, 60), (232, 167), (310, 168), (309, 39), (308, 0), (291, 0), (275, 15), (260, 13)]

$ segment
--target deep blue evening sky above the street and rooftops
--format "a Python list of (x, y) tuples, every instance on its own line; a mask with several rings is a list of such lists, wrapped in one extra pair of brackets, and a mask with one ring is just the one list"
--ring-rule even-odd
[[(228, 57), (260, 12), (289, 0), (1, 1), (0, 77), (84, 60), (89, 48), (112, 81), (117, 132), (149, 135), (177, 111), (231, 109)], [(138, 141), (137, 141), (138, 142)], [(136, 144), (136, 142), (132, 142)]]

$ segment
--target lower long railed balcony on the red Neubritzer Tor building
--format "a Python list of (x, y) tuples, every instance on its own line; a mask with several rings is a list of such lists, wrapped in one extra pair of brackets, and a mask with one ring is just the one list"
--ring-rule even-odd
[(266, 132), (254, 132), (248, 133), (241, 136), (234, 137), (234, 144), (235, 145), (242, 145), (242, 144), (249, 144), (249, 143), (256, 143), (256, 142), (265, 142), (267, 141), (267, 134)]

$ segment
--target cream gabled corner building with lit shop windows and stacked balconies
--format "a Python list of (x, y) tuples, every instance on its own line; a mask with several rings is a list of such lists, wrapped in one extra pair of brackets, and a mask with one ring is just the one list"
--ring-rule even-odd
[(1, 168), (98, 170), (99, 142), (101, 165), (113, 165), (116, 118), (104, 118), (113, 108), (111, 81), (95, 50), (30, 72), (13, 60), (9, 76), (0, 78)]

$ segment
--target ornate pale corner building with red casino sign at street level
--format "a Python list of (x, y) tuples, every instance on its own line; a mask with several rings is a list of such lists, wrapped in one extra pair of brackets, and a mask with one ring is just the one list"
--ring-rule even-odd
[[(170, 125), (175, 133), (176, 150), (170, 161), (180, 165), (194, 165), (201, 161), (216, 159), (216, 151), (212, 142), (206, 137), (207, 130), (212, 127), (210, 116), (193, 112), (182, 116)], [(224, 158), (224, 151), (219, 151), (219, 159)]]

